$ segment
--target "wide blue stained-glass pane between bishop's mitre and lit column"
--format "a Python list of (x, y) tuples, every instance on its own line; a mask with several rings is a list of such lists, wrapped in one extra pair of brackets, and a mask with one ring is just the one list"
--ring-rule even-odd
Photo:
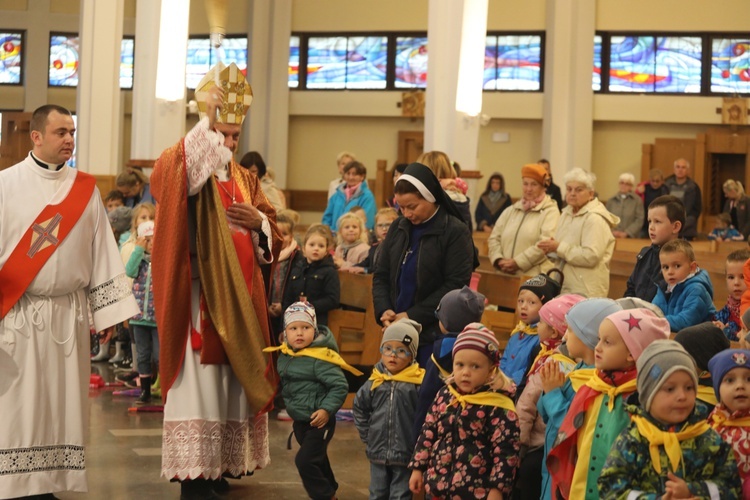
[(384, 36), (311, 37), (308, 89), (384, 89), (388, 39)]

